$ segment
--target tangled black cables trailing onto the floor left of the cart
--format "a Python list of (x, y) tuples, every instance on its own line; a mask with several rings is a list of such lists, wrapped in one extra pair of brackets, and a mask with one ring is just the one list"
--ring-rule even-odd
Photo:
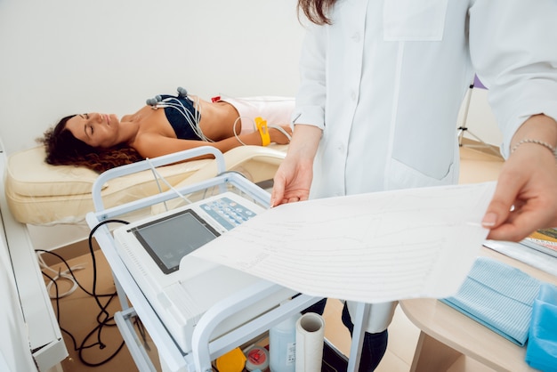
[[(97, 262), (96, 262), (96, 258), (94, 255), (94, 250), (93, 250), (93, 234), (96, 230), (98, 230), (101, 226), (107, 224), (107, 223), (111, 223), (111, 222), (116, 222), (116, 223), (125, 223), (128, 224), (129, 222), (123, 221), (123, 220), (105, 220), (103, 222), (100, 222), (99, 224), (97, 224), (89, 233), (89, 239), (88, 239), (88, 244), (89, 244), (89, 251), (91, 254), (91, 258), (92, 258), (92, 262), (93, 262), (93, 288), (92, 291), (88, 291), (85, 287), (83, 287), (79, 281), (77, 280), (76, 276), (74, 275), (74, 270), (80, 270), (83, 269), (80, 266), (77, 267), (69, 267), (69, 264), (66, 262), (66, 260), (64, 260), (63, 257), (61, 257), (61, 255), (58, 255), (54, 252), (51, 251), (46, 251), (46, 250), (41, 250), (41, 249), (37, 249), (36, 252), (37, 253), (41, 253), (41, 254), (49, 254), (49, 255), (54, 255), (56, 256), (58, 259), (61, 260), (61, 263), (63, 263), (67, 270), (66, 271), (53, 271), (52, 269), (50, 269), (50, 271), (53, 271), (54, 273), (56, 273), (56, 277), (52, 278), (51, 276), (49, 276), (48, 274), (46, 274), (43, 271), (43, 275), (45, 278), (47, 278), (49, 280), (49, 284), (47, 285), (47, 287), (52, 285), (55, 287), (55, 296), (52, 298), (53, 300), (55, 300), (56, 302), (56, 318), (58, 320), (58, 323), (60, 324), (60, 300), (62, 297), (69, 295), (70, 293), (73, 293), (73, 291), (75, 289), (77, 289), (77, 287), (80, 287), (87, 295), (90, 295), (94, 298), (95, 302), (97, 303), (97, 305), (99, 306), (99, 309), (101, 310), (99, 312), (99, 314), (96, 317), (97, 320), (97, 326), (95, 328), (93, 328), (93, 330), (91, 330), (87, 336), (85, 336), (85, 338), (83, 339), (82, 343), (79, 344), (79, 346), (77, 346), (77, 340), (76, 338), (66, 329), (61, 328), (61, 331), (64, 332), (65, 334), (67, 334), (73, 343), (74, 346), (74, 351), (78, 352), (78, 356), (79, 356), (79, 360), (85, 364), (88, 367), (98, 367), (101, 366), (102, 364), (107, 363), (109, 360), (112, 360), (114, 357), (117, 356), (118, 352), (120, 352), (122, 350), (122, 348), (124, 347), (124, 341), (122, 341), (122, 343), (117, 347), (117, 350), (115, 352), (113, 352), (111, 355), (109, 355), (109, 357), (107, 357), (104, 360), (101, 360), (100, 362), (90, 362), (85, 360), (85, 357), (83, 355), (83, 352), (87, 349), (90, 349), (92, 347), (95, 346), (99, 346), (99, 348), (102, 350), (106, 347), (106, 344), (104, 344), (101, 341), (101, 332), (102, 329), (104, 327), (114, 327), (116, 326), (116, 323), (114, 323), (114, 317), (111, 316), (109, 314), (109, 311), (107, 311), (107, 308), (109, 306), (109, 304), (112, 302), (112, 300), (114, 298), (117, 297), (117, 293), (111, 293), (111, 294), (102, 294), (99, 295), (96, 293), (97, 291)], [(58, 283), (56, 282), (59, 279), (66, 279), (66, 280), (70, 280), (71, 282), (74, 283), (74, 286), (66, 293), (64, 294), (60, 294), (59, 293), (59, 287), (58, 287)], [(49, 292), (50, 294), (50, 292)], [(101, 303), (101, 297), (109, 297), (108, 301), (105, 304)], [(97, 341), (93, 344), (86, 344), (86, 342), (96, 334), (96, 338)]]

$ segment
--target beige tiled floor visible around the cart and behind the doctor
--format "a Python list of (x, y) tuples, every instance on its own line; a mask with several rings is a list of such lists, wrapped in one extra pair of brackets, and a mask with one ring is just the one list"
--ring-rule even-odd
[[(466, 147), (461, 148), (461, 182), (485, 182), (496, 180), (496, 175), (503, 164), (501, 158), (497, 158), (491, 153), (486, 153), (480, 150), (472, 150)], [(104, 261), (104, 257), (99, 251), (96, 252), (97, 257), (97, 272), (98, 283), (96, 287), (97, 294), (107, 294), (114, 292), (114, 284), (112, 282), (111, 273), (108, 264)], [(91, 291), (91, 283), (93, 279), (92, 260), (90, 255), (79, 256), (69, 260), (70, 266), (81, 265), (85, 269), (77, 270), (76, 276), (85, 288)], [(62, 268), (61, 270), (65, 270)], [(58, 269), (56, 269), (58, 270)], [(66, 283), (68, 284), (68, 283)], [(64, 292), (65, 284), (60, 284), (59, 291)], [(109, 297), (102, 296), (101, 303), (107, 303)], [(56, 309), (56, 304), (54, 304)], [(108, 312), (113, 314), (117, 311), (118, 302), (117, 298), (109, 303)], [(335, 346), (345, 352), (350, 351), (350, 336), (348, 331), (343, 327), (340, 321), (340, 311), (342, 304), (338, 300), (329, 300), (327, 309), (324, 314), (326, 319), (326, 336)], [(62, 362), (62, 367), (66, 372), (83, 372), (83, 371), (96, 371), (96, 372), (112, 372), (112, 371), (133, 371), (136, 370), (133, 360), (125, 348), (117, 352), (114, 358), (110, 356), (117, 351), (121, 345), (121, 337), (118, 334), (116, 327), (102, 327), (100, 336), (98, 331), (94, 328), (97, 326), (97, 316), (100, 309), (92, 296), (86, 295), (81, 289), (64, 297), (60, 302), (60, 323), (61, 327), (68, 330), (76, 338), (76, 343), (81, 344), (88, 333), (92, 332), (91, 337), (85, 341), (85, 345), (95, 344), (100, 339), (102, 344), (106, 347), (100, 348), (98, 345), (88, 347), (81, 352), (87, 365), (80, 360), (79, 353), (74, 351), (74, 346), (71, 338), (65, 335), (66, 344), (69, 348), (70, 357)], [(103, 318), (101, 313), (100, 318)], [(113, 324), (113, 321), (109, 321)], [(403, 372), (408, 371), (416, 348), (417, 337), (419, 335), (418, 329), (406, 318), (400, 307), (397, 308), (391, 327), (389, 328), (389, 346), (383, 358), (378, 372)], [(109, 359), (110, 358), (110, 359)], [(103, 360), (109, 359), (108, 362), (102, 363), (99, 366), (94, 366), (101, 363)], [(454, 366), (451, 372), (463, 370), (485, 370), (480, 367), (470, 368), (468, 366)]]

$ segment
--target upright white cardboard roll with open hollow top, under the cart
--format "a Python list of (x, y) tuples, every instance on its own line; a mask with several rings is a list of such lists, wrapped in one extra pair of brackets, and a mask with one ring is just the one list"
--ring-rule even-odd
[(325, 320), (307, 312), (296, 322), (296, 372), (321, 372)]

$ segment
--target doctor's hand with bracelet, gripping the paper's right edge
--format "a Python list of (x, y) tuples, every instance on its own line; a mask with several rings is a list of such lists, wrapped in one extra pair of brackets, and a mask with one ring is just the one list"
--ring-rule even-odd
[[(535, 135), (515, 138), (547, 138)], [(557, 164), (550, 150), (522, 143), (509, 156), (482, 224), (490, 229), (488, 239), (510, 241), (520, 241), (537, 229), (557, 227)]]

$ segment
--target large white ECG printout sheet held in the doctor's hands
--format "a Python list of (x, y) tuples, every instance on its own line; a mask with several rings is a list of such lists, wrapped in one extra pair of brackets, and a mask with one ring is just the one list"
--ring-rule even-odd
[(464, 282), (488, 235), (480, 222), (495, 185), (277, 206), (190, 255), (307, 295), (363, 303), (448, 297)]

